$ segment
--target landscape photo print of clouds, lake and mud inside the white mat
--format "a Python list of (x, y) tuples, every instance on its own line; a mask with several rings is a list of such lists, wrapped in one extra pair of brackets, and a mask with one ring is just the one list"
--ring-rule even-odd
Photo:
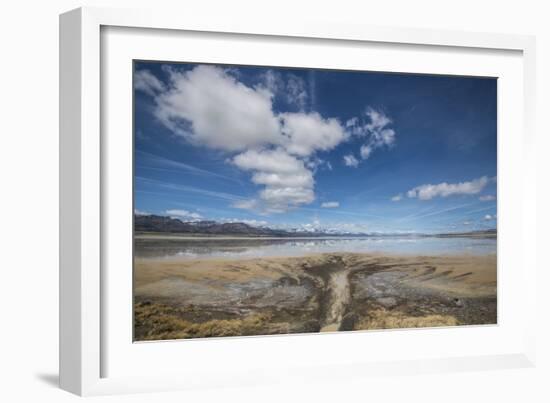
[(134, 341), (497, 323), (496, 78), (132, 74)]

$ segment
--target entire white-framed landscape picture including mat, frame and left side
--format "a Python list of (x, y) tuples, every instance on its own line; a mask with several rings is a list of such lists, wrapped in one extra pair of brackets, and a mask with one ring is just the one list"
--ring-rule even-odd
[(64, 389), (533, 365), (533, 38), (60, 24)]

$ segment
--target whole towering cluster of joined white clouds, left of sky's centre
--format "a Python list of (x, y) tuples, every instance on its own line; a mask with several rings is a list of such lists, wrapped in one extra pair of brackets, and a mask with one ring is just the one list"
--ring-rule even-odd
[[(238, 71), (215, 66), (165, 72), (166, 84), (151, 73), (136, 79), (142, 91), (154, 95), (156, 118), (191, 144), (229, 154), (227, 161), (249, 172), (252, 182), (262, 187), (257, 197), (234, 201), (236, 208), (276, 213), (309, 204), (315, 199), (313, 174), (323, 162), (316, 153), (357, 134), (367, 138), (361, 150), (365, 159), (394, 141), (395, 133), (387, 128), (391, 120), (374, 109), (366, 111), (368, 123), (356, 119), (345, 126), (336, 118), (305, 112), (307, 86), (292, 74), (283, 79), (268, 71), (262, 82), (248, 86), (239, 81)], [(274, 99), (282, 96), (299, 112), (275, 112)], [(359, 164), (353, 155), (344, 162)]]

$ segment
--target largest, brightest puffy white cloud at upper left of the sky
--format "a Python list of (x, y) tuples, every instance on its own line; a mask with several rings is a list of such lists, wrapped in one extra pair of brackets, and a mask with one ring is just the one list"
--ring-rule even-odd
[(269, 90), (247, 87), (214, 66), (167, 71), (170, 88), (156, 97), (155, 114), (176, 134), (223, 151), (283, 140)]

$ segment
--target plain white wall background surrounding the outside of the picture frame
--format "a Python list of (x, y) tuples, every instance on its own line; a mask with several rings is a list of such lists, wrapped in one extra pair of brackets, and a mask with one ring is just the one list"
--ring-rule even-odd
[[(261, 5), (260, 5), (261, 4)], [(537, 36), (538, 249), (549, 240), (548, 191), (550, 28), (547, 2), (386, 0), (73, 1), (19, 0), (0, 6), (0, 396), (2, 401), (69, 402), (59, 390), (58, 337), (58, 14), (81, 5), (183, 7), (182, 12), (231, 18), (326, 20), (372, 25), (451, 28)], [(544, 267), (544, 265), (542, 266)], [(546, 265), (548, 267), (548, 265)], [(538, 366), (451, 375), (378, 377), (349, 383), (262, 387), (94, 398), (97, 401), (550, 401), (550, 328), (546, 284), (540, 274)]]

